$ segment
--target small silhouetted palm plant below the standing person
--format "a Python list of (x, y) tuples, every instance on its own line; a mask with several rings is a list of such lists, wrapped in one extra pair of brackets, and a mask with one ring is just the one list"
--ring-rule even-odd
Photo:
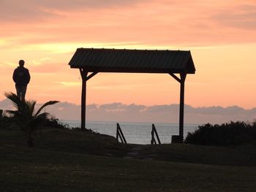
[(20, 100), (20, 98), (12, 92), (4, 93), (4, 95), (7, 99), (12, 101), (13, 107), (15, 107), (15, 110), (7, 110), (7, 113), (13, 116), (13, 119), (18, 124), (19, 128), (26, 133), (28, 147), (33, 147), (34, 139), (32, 134), (49, 115), (48, 112), (42, 112), (42, 110), (48, 105), (56, 104), (59, 101), (48, 101), (36, 111), (35, 106), (37, 101)]

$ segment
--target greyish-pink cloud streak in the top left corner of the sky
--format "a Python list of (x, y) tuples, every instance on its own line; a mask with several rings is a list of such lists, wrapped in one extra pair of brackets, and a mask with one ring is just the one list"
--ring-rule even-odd
[[(142, 0), (140, 0), (142, 1)], [(0, 20), (22, 21), (31, 23), (34, 20), (45, 20), (48, 18), (65, 18), (65, 13), (89, 9), (102, 9), (110, 7), (123, 7), (140, 2), (139, 0), (1, 0)]]

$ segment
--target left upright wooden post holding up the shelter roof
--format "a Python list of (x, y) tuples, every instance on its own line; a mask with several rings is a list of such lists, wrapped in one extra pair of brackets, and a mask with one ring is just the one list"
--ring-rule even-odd
[(86, 77), (88, 72), (84, 69), (80, 69), (82, 77), (82, 95), (81, 95), (81, 130), (86, 129)]

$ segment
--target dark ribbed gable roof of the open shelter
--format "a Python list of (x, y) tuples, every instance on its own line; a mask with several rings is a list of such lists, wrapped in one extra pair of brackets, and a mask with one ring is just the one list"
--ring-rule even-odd
[(78, 48), (69, 66), (87, 72), (195, 74), (192, 55), (187, 50)]

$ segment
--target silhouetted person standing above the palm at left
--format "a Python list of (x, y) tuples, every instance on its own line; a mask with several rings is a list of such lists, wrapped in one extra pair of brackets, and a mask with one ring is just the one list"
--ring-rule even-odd
[(15, 82), (15, 88), (17, 91), (17, 96), (20, 100), (25, 101), (26, 86), (30, 81), (29, 69), (24, 67), (25, 61), (20, 60), (19, 66), (14, 70), (12, 79)]

